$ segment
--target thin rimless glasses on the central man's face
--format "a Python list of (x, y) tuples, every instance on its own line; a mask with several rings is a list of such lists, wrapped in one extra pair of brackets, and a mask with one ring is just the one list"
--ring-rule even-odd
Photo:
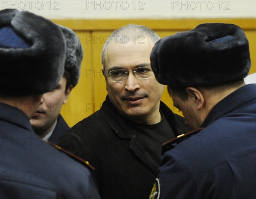
[(128, 78), (129, 72), (133, 72), (134, 76), (138, 79), (149, 79), (153, 76), (152, 69), (150, 67), (139, 67), (134, 70), (116, 69), (105, 73), (106, 76), (110, 77), (113, 82), (122, 82)]

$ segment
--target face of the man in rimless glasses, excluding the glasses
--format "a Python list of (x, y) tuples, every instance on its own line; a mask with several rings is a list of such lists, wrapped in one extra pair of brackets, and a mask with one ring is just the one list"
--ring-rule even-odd
[[(153, 46), (149, 37), (145, 37), (143, 43), (109, 43), (105, 50), (105, 72), (150, 67)], [(144, 80), (135, 78), (132, 72), (129, 72), (128, 78), (123, 82), (113, 82), (110, 77), (106, 77), (106, 84), (112, 104), (125, 117), (143, 122), (148, 118), (154, 119), (159, 114), (164, 86), (157, 82), (153, 72), (151, 78)]]

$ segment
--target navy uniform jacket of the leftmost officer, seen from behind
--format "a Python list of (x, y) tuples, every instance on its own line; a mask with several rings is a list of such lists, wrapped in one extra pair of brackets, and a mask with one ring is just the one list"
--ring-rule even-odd
[(0, 103), (1, 199), (99, 199), (90, 171), (44, 142), (29, 118)]

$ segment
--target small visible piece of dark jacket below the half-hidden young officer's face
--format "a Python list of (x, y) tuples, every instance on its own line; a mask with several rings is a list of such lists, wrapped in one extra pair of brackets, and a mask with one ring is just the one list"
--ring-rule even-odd
[(68, 130), (70, 130), (70, 127), (67, 125), (61, 114), (59, 114), (57, 118), (57, 124), (52, 132), (51, 137), (49, 138), (49, 142), (57, 144), (59, 138), (61, 138), (64, 133), (67, 133)]

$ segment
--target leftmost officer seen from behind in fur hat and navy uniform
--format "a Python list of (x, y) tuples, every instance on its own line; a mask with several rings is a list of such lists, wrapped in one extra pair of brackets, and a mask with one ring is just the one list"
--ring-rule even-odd
[(61, 29), (6, 9), (0, 11), (0, 38), (0, 198), (98, 199), (89, 167), (44, 142), (29, 123), (42, 93), (63, 75)]

